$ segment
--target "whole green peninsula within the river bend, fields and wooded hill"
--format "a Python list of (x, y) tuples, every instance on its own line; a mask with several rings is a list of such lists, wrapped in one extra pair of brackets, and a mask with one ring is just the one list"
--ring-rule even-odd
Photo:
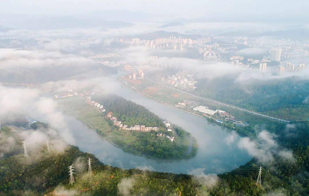
[[(144, 106), (117, 95), (92, 96), (91, 99), (104, 106), (105, 112), (101, 113), (81, 96), (57, 101), (67, 114), (82, 121), (125, 152), (163, 159), (185, 159), (196, 155), (198, 144), (189, 132), (176, 125), (171, 125), (172, 131), (167, 131), (163, 120)], [(128, 126), (159, 127), (159, 131), (123, 130), (106, 118), (108, 112)]]

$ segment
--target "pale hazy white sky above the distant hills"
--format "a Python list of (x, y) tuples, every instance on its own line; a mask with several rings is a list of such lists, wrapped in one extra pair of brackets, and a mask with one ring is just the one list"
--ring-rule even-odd
[(102, 10), (130, 10), (174, 18), (235, 16), (243, 18), (308, 18), (307, 0), (1, 0), (0, 13), (91, 14)]

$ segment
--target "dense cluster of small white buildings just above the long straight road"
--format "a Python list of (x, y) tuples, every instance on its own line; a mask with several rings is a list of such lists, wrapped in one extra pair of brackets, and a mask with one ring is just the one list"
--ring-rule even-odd
[(194, 78), (192, 74), (190, 74), (188, 71), (179, 71), (175, 75), (172, 76), (157, 76), (156, 80), (171, 85), (173, 87), (179, 87), (185, 90), (194, 90), (196, 89), (196, 86), (194, 86), (197, 81), (194, 81)]

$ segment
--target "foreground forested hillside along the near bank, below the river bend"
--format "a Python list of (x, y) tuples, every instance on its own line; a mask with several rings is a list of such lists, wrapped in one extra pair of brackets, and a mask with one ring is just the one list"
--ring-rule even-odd
[[(0, 160), (1, 195), (308, 195), (309, 194), (309, 124), (278, 124), (272, 129), (282, 148), (293, 151), (295, 162), (281, 156), (262, 165), (262, 186), (255, 184), (260, 163), (253, 158), (246, 165), (218, 176), (162, 173), (139, 169), (119, 169), (104, 165), (93, 155), (67, 145), (62, 152), (29, 151)], [(2, 129), (2, 142), (22, 138), (12, 128)], [(14, 129), (14, 127), (13, 127)], [(40, 129), (42, 130), (42, 129)], [(14, 150), (14, 149), (11, 149)], [(16, 149), (15, 149), (16, 150)], [(93, 174), (87, 175), (87, 158), (91, 158)], [(75, 166), (75, 184), (69, 186), (68, 166)]]

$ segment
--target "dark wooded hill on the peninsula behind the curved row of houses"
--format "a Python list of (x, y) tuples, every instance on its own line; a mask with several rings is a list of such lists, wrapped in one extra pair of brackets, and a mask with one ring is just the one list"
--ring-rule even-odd
[(146, 107), (128, 101), (117, 95), (93, 97), (93, 100), (102, 103), (107, 112), (112, 111), (113, 116), (128, 126), (145, 125), (146, 127), (165, 127), (162, 120), (150, 112)]

